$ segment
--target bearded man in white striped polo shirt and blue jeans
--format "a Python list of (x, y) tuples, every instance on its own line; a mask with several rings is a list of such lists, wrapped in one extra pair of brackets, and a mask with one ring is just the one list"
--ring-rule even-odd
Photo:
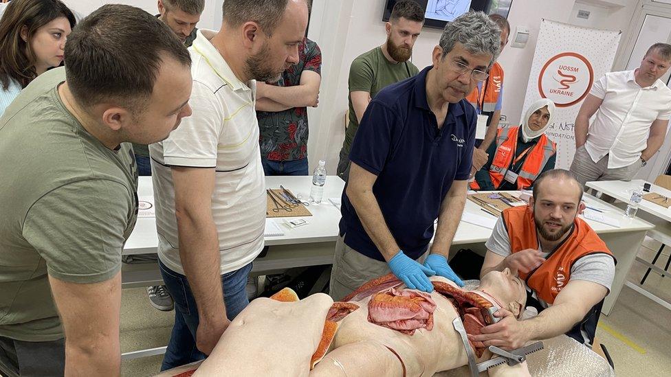
[(307, 21), (305, 0), (226, 0), (221, 30), (198, 30), (189, 48), (192, 117), (150, 146), (159, 266), (175, 299), (162, 370), (210, 354), (249, 304), (266, 203), (254, 80), (298, 62)]

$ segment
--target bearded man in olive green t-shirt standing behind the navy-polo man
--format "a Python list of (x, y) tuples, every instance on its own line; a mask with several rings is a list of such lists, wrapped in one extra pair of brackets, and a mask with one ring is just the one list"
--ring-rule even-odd
[(344, 181), (349, 176), (349, 150), (369, 102), (384, 87), (419, 73), (408, 60), (423, 23), (424, 11), (419, 4), (413, 0), (397, 1), (385, 25), (387, 40), (384, 45), (353, 60), (349, 68), (349, 124), (337, 171)]

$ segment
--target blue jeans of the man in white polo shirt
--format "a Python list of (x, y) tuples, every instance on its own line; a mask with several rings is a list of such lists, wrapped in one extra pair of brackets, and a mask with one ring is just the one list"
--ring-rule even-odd
[[(175, 325), (161, 365), (161, 370), (164, 371), (202, 360), (205, 354), (196, 347), (198, 310), (186, 276), (168, 269), (160, 260), (158, 263), (163, 282), (175, 300)], [(239, 270), (221, 275), (226, 317), (231, 321), (250, 303), (245, 292), (250, 271), (252, 271), (252, 263)]]

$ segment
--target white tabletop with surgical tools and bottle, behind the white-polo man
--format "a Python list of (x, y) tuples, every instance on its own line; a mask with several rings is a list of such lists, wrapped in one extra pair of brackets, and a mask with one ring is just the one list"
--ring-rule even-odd
[[(267, 176), (265, 187), (278, 189), (283, 185), (287, 190), (298, 196), (303, 201), (309, 201), (312, 184), (312, 176)], [(338, 198), (342, 194), (344, 181), (338, 176), (327, 176), (324, 185), (324, 196), (319, 205), (309, 205), (307, 209), (313, 216), (301, 217), (308, 224), (302, 227), (289, 229), (283, 225), (286, 218), (273, 218), (276, 224), (284, 231), (284, 236), (266, 237), (265, 244), (302, 244), (309, 242), (335, 242), (338, 238), (338, 222), (340, 221), (340, 209), (335, 207), (329, 198)], [(151, 196), (153, 189), (151, 176), (140, 176), (137, 187), (138, 196)], [(294, 218), (289, 218), (294, 219)], [(155, 218), (137, 218), (135, 229), (124, 247), (125, 254), (156, 253), (158, 238), (156, 235)]]

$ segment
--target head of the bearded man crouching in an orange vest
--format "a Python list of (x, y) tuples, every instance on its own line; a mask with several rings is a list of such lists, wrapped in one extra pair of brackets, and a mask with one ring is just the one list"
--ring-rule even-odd
[(582, 192), (582, 185), (568, 170), (553, 169), (540, 174), (533, 183), (533, 197), (529, 201), (538, 236), (554, 242), (570, 231), (575, 216), (585, 209)]

